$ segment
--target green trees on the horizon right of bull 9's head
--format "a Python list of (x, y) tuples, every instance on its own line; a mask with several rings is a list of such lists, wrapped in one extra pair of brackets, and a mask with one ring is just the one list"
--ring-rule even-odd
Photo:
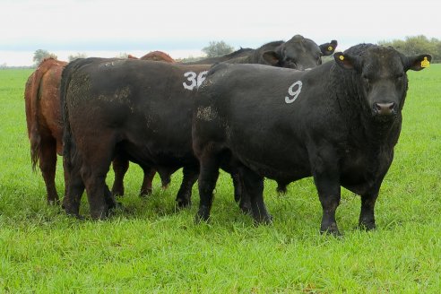
[(393, 39), (392, 41), (379, 41), (378, 45), (392, 46), (407, 56), (430, 54), (432, 63), (441, 63), (441, 40), (428, 39), (424, 35)]

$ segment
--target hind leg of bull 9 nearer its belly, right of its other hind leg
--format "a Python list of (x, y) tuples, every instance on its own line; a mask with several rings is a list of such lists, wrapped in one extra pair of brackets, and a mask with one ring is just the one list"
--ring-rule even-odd
[(251, 212), (256, 223), (271, 223), (272, 217), (264, 203), (264, 177), (257, 175), (246, 167), (239, 168), (240, 179), (243, 183), (243, 195), (249, 198)]

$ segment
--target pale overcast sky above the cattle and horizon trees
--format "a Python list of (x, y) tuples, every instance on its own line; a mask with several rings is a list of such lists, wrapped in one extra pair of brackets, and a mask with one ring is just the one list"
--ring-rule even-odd
[(0, 0), (0, 65), (32, 65), (33, 52), (174, 58), (211, 40), (257, 48), (296, 34), (317, 44), (426, 35), (441, 39), (441, 0)]

